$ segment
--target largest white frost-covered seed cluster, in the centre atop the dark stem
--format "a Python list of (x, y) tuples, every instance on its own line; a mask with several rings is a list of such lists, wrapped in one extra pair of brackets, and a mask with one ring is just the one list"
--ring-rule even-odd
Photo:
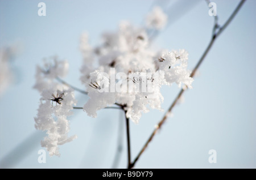
[[(148, 17), (154, 28), (167, 20), (159, 8)], [(151, 49), (146, 29), (129, 22), (121, 22), (116, 32), (103, 33), (102, 40), (88, 51), (95, 62), (84, 61), (81, 68), (80, 79), (89, 96), (84, 105), (88, 115), (97, 117), (98, 110), (119, 104), (125, 107), (126, 117), (138, 123), (149, 108), (162, 110), (162, 85), (177, 83), (191, 88), (185, 50)]]

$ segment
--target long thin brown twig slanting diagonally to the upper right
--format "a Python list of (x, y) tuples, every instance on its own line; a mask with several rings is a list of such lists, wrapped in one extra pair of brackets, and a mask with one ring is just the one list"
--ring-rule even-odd
[[(238, 6), (236, 7), (236, 9), (233, 11), (232, 15), (230, 15), (229, 19), (226, 21), (226, 23), (220, 28), (220, 30), (218, 30), (217, 33), (215, 33), (210, 42), (209, 45), (207, 46), (207, 48), (205, 49), (203, 55), (201, 56), (201, 58), (199, 59), (199, 62), (197, 62), (197, 65), (195, 66), (195, 68), (193, 69), (193, 71), (191, 72), (191, 77), (193, 77), (197, 71), (197, 69), (199, 68), (199, 66), (201, 65), (201, 63), (203, 62), (203, 60), (205, 59), (206, 55), (208, 54), (210, 48), (212, 48), (213, 42), (216, 40), (216, 38), (218, 36), (220, 36), (220, 34), (224, 31), (224, 29), (229, 25), (229, 23), (232, 21), (232, 19), (234, 18), (234, 16), (237, 14), (237, 12), (240, 10), (240, 8), (242, 7), (243, 3), (245, 2), (245, 0), (241, 0), (240, 3), (238, 4)], [(214, 22), (215, 23), (215, 22)], [(214, 27), (213, 27), (214, 28)], [(147, 148), (147, 145), (151, 142), (152, 138), (154, 137), (154, 135), (156, 134), (156, 132), (160, 129), (160, 127), (163, 125), (163, 123), (166, 121), (168, 114), (171, 112), (172, 108), (174, 108), (174, 106), (176, 105), (177, 101), (179, 100), (179, 98), (181, 97), (181, 95), (183, 95), (183, 92), (185, 91), (185, 89), (181, 89), (179, 94), (177, 95), (177, 97), (175, 98), (174, 102), (172, 102), (170, 108), (167, 110), (167, 112), (165, 113), (164, 117), (162, 118), (162, 120), (158, 123), (158, 126), (155, 127), (155, 130), (152, 132), (152, 134), (150, 135), (150, 138), (148, 138), (146, 144), (144, 144), (144, 146), (142, 147), (141, 151), (139, 152), (138, 156), (135, 157), (135, 160), (131, 163), (130, 168), (133, 168), (133, 166), (135, 165), (135, 163), (138, 161), (139, 157), (141, 157), (142, 153), (144, 152), (144, 150)]]

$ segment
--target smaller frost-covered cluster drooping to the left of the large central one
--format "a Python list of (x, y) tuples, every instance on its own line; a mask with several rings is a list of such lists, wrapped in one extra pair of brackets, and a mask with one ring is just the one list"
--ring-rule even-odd
[(71, 142), (76, 135), (68, 137), (69, 121), (73, 105), (76, 105), (72, 88), (57, 83), (56, 78), (63, 78), (68, 72), (68, 62), (58, 61), (57, 57), (44, 59), (44, 66), (36, 68), (36, 84), (34, 88), (40, 92), (40, 105), (35, 127), (46, 131), (42, 147), (46, 147), (49, 155), (59, 156), (58, 145)]

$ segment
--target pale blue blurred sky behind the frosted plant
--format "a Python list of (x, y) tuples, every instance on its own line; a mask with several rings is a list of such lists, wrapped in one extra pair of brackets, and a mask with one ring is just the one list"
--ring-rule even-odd
[[(38, 16), (38, 3), (46, 3), (46, 16)], [(168, 5), (170, 2), (170, 8)], [(240, 1), (213, 1), (223, 24)], [(169, 14), (168, 28), (160, 32), (156, 48), (186, 49), (193, 68), (209, 43), (213, 17), (205, 1), (3, 1), (0, 0), (0, 47), (19, 44), (11, 63), (15, 82), (0, 96), (1, 168), (112, 168), (117, 149), (119, 110), (104, 109), (97, 118), (74, 110), (69, 135), (78, 138), (60, 146), (60, 157), (38, 163), (40, 140), (34, 117), (39, 93), (32, 89), (35, 67), (42, 58), (68, 59), (65, 80), (82, 88), (79, 37), (88, 32), (92, 45), (104, 31), (115, 31), (121, 20), (143, 25), (152, 5)], [(200, 67), (193, 89), (184, 93), (183, 104), (174, 108), (135, 168), (255, 168), (256, 167), (256, 1), (248, 0), (221, 34)], [(179, 92), (177, 85), (164, 87), (166, 110)], [(79, 105), (87, 97), (76, 93)], [(123, 114), (121, 114), (123, 115)], [(131, 156), (146, 142), (163, 112), (143, 114), (131, 125)], [(125, 125), (123, 123), (123, 125)], [(126, 168), (126, 136), (118, 168)], [(217, 163), (208, 162), (208, 151), (217, 151)]]

